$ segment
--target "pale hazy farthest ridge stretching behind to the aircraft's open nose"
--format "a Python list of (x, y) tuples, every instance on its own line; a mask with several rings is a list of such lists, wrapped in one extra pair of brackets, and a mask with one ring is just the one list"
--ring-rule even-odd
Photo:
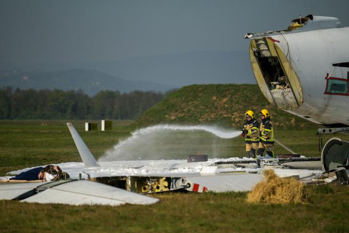
[[(14, 65), (8, 64), (8, 66)], [(3, 67), (6, 67), (6, 64), (3, 64)], [(17, 65), (17, 67), (22, 70), (43, 71), (92, 69), (124, 80), (176, 87), (191, 84), (256, 84), (247, 48), (246, 52), (193, 51), (117, 61)]]

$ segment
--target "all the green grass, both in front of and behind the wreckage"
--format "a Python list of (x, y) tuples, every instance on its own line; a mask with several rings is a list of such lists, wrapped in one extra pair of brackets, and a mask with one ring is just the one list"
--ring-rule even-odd
[[(113, 130), (84, 131), (84, 121), (72, 122), (91, 152), (99, 158), (135, 125), (114, 121)], [(307, 157), (320, 156), (316, 130), (278, 131), (275, 135)], [(200, 134), (210, 154), (212, 135)], [(349, 135), (338, 134), (349, 141)], [(197, 138), (197, 137), (196, 137)], [(330, 137), (324, 137), (324, 142)], [(216, 141), (224, 157), (243, 157), (242, 138)], [(166, 148), (165, 148), (166, 149)], [(171, 145), (168, 145), (171, 149)], [(0, 176), (50, 163), (81, 161), (64, 121), (0, 121)], [(277, 154), (288, 153), (276, 145)], [(150, 206), (70, 206), (0, 201), (0, 232), (348, 232), (346, 211), (349, 189), (341, 185), (306, 187), (303, 204), (248, 204), (245, 192), (158, 193), (160, 202)]]

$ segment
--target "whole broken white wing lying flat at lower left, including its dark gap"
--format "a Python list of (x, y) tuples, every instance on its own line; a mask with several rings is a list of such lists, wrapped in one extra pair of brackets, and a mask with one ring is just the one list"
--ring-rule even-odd
[[(13, 192), (14, 195), (10, 195)], [(59, 203), (69, 205), (150, 205), (159, 199), (87, 180), (70, 180), (0, 185), (2, 199), (22, 199), (21, 202)], [(24, 196), (24, 194), (26, 194)]]

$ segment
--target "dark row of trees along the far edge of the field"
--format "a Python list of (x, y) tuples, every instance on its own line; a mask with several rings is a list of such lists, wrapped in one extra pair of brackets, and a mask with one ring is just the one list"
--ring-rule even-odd
[(0, 119), (133, 120), (165, 98), (168, 92), (82, 90), (13, 90), (0, 88)]

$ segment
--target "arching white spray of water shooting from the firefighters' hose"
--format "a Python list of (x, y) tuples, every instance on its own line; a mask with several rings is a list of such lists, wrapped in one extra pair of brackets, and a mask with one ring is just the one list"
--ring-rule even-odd
[(207, 151), (215, 156), (218, 140), (232, 139), (241, 131), (228, 131), (218, 127), (197, 125), (156, 125), (132, 132), (108, 150), (100, 161), (185, 159), (188, 154)]

